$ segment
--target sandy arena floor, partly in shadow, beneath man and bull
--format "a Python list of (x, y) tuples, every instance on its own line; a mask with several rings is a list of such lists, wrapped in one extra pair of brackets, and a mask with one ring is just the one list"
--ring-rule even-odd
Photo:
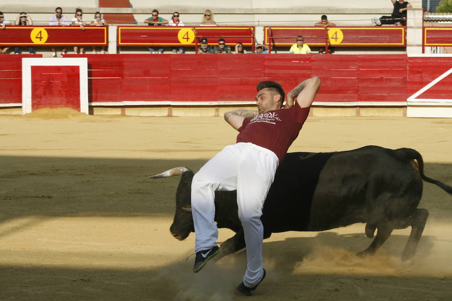
[[(169, 233), (177, 166), (198, 170), (236, 132), (221, 117), (0, 116), (0, 300), (242, 300), (245, 253), (191, 271), (194, 235)], [(308, 118), (290, 152), (411, 147), (452, 185), (452, 120)], [(452, 197), (425, 183), (430, 211), (412, 260), (409, 230), (377, 255), (364, 225), (273, 234), (255, 300), (452, 300)], [(231, 237), (220, 229), (219, 241)]]

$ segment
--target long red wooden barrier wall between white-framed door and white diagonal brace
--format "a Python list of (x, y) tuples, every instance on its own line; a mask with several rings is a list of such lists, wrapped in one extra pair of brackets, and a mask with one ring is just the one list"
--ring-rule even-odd
[(313, 75), (322, 79), (316, 101), (406, 101), (406, 55), (86, 57), (90, 102), (254, 101), (261, 80), (278, 81), (289, 90)]

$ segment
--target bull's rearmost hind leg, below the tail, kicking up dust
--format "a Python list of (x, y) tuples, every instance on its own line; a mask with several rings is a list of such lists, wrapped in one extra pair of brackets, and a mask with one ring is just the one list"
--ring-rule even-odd
[(403, 250), (402, 260), (410, 259), (413, 257), (414, 252), (416, 252), (417, 244), (419, 243), (419, 239), (424, 231), (425, 223), (427, 222), (427, 217), (427, 209), (416, 209), (414, 214), (403, 221), (406, 226), (402, 229), (411, 226), (411, 233), (405, 249)]

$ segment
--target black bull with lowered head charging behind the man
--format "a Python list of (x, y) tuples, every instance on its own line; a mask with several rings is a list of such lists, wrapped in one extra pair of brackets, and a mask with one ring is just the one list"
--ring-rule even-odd
[[(183, 240), (194, 231), (190, 213), (193, 172), (175, 168), (151, 178), (174, 175), (181, 175), (181, 180), (170, 231)], [(265, 200), (264, 238), (274, 232), (323, 231), (366, 223), (368, 237), (378, 231), (371, 245), (359, 253), (364, 255), (375, 253), (393, 229), (411, 226), (402, 254), (403, 260), (408, 259), (414, 255), (428, 217), (426, 209), (417, 209), (422, 180), (452, 194), (452, 187), (425, 177), (422, 157), (414, 149), (365, 146), (347, 152), (289, 153)], [(236, 191), (215, 192), (215, 221), (218, 228), (236, 232), (221, 244), (222, 256), (245, 247)]]

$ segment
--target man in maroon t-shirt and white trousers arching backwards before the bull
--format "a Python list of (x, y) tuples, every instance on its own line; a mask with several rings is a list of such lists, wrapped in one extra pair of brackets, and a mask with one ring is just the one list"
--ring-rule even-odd
[(298, 136), (319, 87), (318, 77), (306, 79), (287, 94), (286, 109), (282, 109), (285, 93), (281, 85), (274, 81), (262, 81), (257, 85), (258, 111), (224, 113), (224, 119), (240, 132), (237, 143), (224, 147), (210, 159), (194, 175), (191, 183), (191, 208), (196, 233), (195, 273), (220, 252), (216, 244), (218, 228), (214, 222), (215, 191), (237, 190), (248, 261), (243, 282), (237, 290), (251, 295), (264, 279), (264, 227), (260, 219), (264, 201), (276, 168)]

